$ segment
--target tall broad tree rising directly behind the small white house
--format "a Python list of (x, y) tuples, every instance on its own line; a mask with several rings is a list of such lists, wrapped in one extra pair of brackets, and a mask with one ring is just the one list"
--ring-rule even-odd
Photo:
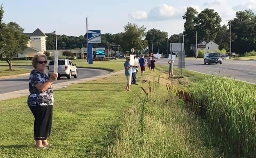
[(197, 37), (201, 41), (215, 41), (221, 18), (213, 9), (205, 9), (195, 18)]

